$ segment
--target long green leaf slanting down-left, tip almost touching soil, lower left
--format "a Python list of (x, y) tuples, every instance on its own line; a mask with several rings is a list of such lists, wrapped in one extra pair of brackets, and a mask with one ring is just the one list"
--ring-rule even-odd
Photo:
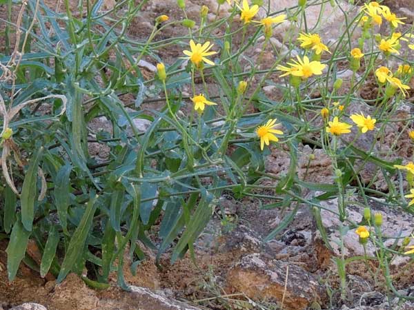
[(62, 282), (62, 280), (66, 278), (72, 269), (73, 265), (75, 265), (78, 258), (83, 256), (86, 238), (88, 237), (90, 227), (92, 226), (93, 215), (97, 209), (97, 204), (95, 204), (96, 200), (97, 196), (95, 196), (95, 193), (92, 192), (90, 194), (90, 200), (85, 207), (86, 210), (85, 213), (83, 213), (81, 223), (79, 223), (79, 226), (75, 230), (75, 233), (70, 239), (68, 248), (66, 249), (66, 255), (65, 258), (63, 258), (57, 282)]

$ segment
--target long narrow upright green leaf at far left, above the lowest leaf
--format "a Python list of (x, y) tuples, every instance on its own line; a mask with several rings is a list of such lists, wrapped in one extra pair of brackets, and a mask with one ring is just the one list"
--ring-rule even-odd
[(37, 192), (37, 169), (39, 168), (39, 161), (43, 149), (43, 147), (40, 147), (37, 154), (30, 161), (29, 169), (23, 180), (21, 189), (21, 223), (28, 231), (32, 231), (33, 226), (34, 200), (36, 199)]

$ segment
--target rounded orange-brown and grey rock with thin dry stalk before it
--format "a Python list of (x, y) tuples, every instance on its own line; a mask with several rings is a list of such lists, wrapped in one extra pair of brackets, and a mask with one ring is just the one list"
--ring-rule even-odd
[(281, 303), (284, 298), (286, 310), (306, 309), (325, 299), (324, 287), (311, 273), (288, 262), (266, 260), (261, 254), (250, 254), (237, 262), (228, 272), (227, 284), (230, 291), (257, 300)]

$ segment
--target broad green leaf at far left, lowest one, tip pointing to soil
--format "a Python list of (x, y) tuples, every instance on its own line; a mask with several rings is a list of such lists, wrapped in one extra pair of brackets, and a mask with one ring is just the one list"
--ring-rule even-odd
[(19, 269), (20, 262), (25, 256), (29, 236), (30, 231), (24, 229), (21, 221), (17, 220), (16, 223), (14, 223), (12, 234), (10, 235), (8, 247), (6, 249), (9, 281), (14, 280), (17, 270)]

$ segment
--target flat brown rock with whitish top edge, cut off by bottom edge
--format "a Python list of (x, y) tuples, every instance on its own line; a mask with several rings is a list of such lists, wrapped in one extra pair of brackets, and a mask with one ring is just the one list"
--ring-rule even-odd
[(90, 310), (201, 310), (184, 302), (172, 300), (143, 287), (130, 287), (130, 292), (104, 292), (96, 307)]

